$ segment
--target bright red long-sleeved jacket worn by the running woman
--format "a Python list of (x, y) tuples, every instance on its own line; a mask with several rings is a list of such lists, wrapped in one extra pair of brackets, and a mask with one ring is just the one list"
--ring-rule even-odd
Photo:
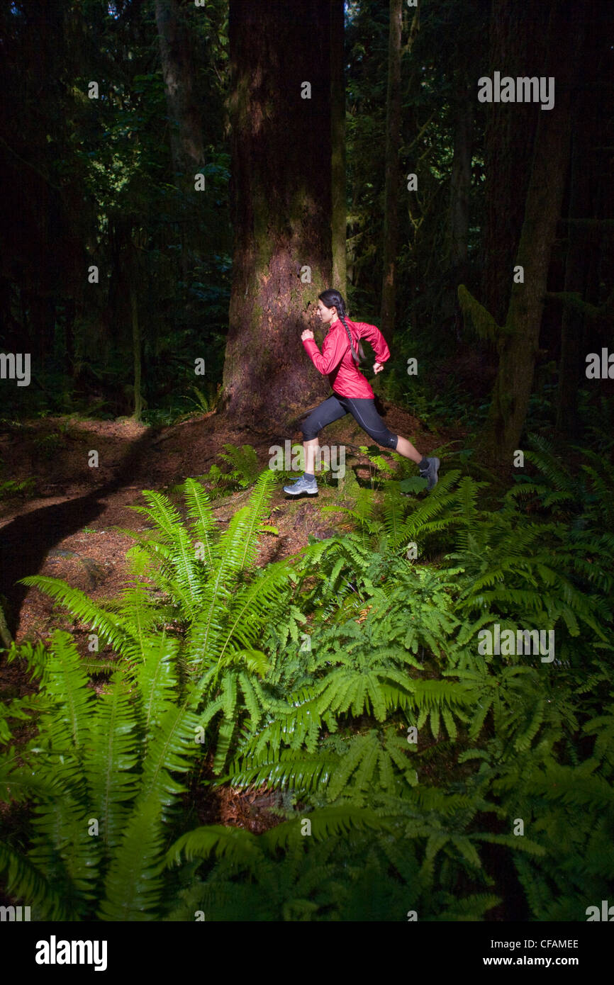
[[(373, 346), (377, 362), (386, 362), (390, 359), (390, 350), (386, 346), (383, 335), (378, 328), (375, 328), (375, 325), (369, 325), (366, 321), (350, 321), (349, 318), (345, 320), (348, 323), (352, 335), (352, 344), (356, 351), (358, 351), (358, 340), (367, 339)], [(324, 338), (321, 353), (314, 339), (306, 339), (303, 345), (315, 368), (322, 375), (328, 375), (333, 393), (338, 393), (341, 397), (373, 400), (374, 391), (356, 367), (348, 342), (348, 333), (340, 318), (335, 318), (331, 322), (328, 334)]]

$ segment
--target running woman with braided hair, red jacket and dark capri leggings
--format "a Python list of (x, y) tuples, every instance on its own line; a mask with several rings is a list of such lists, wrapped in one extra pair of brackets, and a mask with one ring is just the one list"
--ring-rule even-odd
[(420, 475), (427, 480), (427, 489), (437, 485), (439, 458), (423, 458), (413, 444), (400, 434), (392, 434), (384, 425), (375, 410), (375, 394), (370, 384), (359, 372), (359, 357), (355, 345), (359, 339), (367, 339), (374, 348), (376, 361), (374, 372), (383, 369), (383, 363), (390, 359), (390, 351), (385, 339), (375, 325), (363, 321), (350, 321), (345, 310), (345, 301), (338, 291), (323, 291), (318, 295), (317, 314), (328, 334), (324, 339), (322, 352), (313, 339), (313, 332), (306, 328), (301, 338), (313, 365), (322, 375), (328, 375), (333, 395), (311, 411), (303, 422), (303, 447), (305, 448), (306, 471), (290, 486), (284, 486), (284, 493), (299, 495), (317, 493), (315, 482), (315, 452), (318, 447), (317, 433), (352, 414), (358, 424), (370, 437), (384, 448), (393, 448), (405, 458), (411, 458), (420, 469)]

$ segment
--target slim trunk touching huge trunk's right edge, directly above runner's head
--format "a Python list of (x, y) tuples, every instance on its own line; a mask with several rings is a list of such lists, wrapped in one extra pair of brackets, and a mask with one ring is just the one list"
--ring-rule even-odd
[(330, 0), (330, 100), (332, 141), (332, 284), (346, 296), (345, 177), (345, 12), (343, 0)]

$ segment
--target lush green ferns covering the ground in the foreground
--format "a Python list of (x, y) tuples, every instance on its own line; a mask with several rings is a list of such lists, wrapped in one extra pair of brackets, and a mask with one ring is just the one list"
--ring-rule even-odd
[[(112, 652), (58, 631), (9, 653), (39, 686), (0, 719), (3, 743), (37, 728), (0, 759), (0, 799), (31, 808), (0, 847), (11, 897), (35, 919), (584, 920), (614, 877), (614, 476), (527, 457), (495, 505), (459, 470), (428, 496), (348, 472), (319, 507), (347, 530), (264, 566), (276, 477), (225, 530), (187, 480), (180, 507), (143, 493), (120, 598), (25, 579)], [(482, 645), (496, 625), (553, 630), (552, 658)], [(190, 826), (203, 782), (278, 792), (279, 822)]]

